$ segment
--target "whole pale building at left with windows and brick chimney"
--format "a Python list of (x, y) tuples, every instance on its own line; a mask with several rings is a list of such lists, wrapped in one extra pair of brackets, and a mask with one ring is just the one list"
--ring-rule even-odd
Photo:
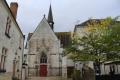
[[(17, 11), (18, 4), (11, 3), (11, 9)], [(0, 73), (21, 78), (24, 36), (5, 0), (0, 0)]]

